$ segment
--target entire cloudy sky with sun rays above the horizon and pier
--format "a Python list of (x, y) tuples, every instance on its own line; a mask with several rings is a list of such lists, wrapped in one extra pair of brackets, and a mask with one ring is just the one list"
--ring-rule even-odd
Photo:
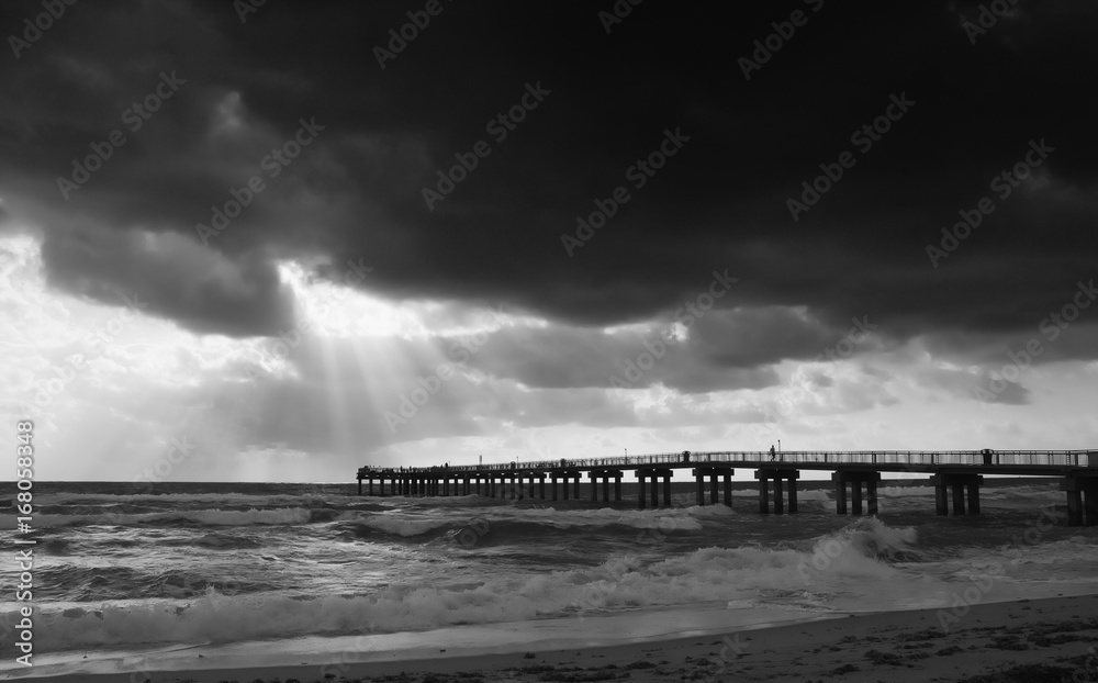
[(1098, 445), (1088, 0), (48, 5), (0, 11), (40, 479)]

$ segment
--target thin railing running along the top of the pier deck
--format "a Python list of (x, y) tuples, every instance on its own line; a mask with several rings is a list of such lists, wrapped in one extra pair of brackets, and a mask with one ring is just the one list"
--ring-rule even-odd
[[(775, 464), (888, 464), (888, 466), (1015, 466), (1015, 467), (1098, 467), (1098, 451), (1095, 450), (995, 450), (989, 455), (982, 450), (796, 450), (778, 452), (771, 457), (769, 450), (737, 451), (677, 451), (646, 454), (640, 456), (616, 456), (610, 458), (582, 458), (554, 460), (526, 460), (494, 462), (489, 464), (449, 464), (434, 468), (405, 468), (405, 471), (485, 472), (515, 470), (562, 470), (636, 468), (650, 466), (690, 467), (706, 463), (743, 462), (752, 466)], [(393, 468), (365, 467), (362, 472), (392, 471)]]

